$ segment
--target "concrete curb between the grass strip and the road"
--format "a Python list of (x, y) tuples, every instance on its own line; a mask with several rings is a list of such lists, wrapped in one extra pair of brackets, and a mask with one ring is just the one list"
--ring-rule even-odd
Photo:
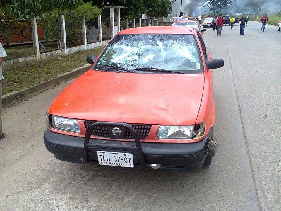
[(13, 91), (11, 93), (4, 94), (2, 96), (2, 104), (14, 101), (17, 98), (26, 97), (30, 94), (35, 94), (35, 93), (40, 92), (44, 89), (47, 89), (51, 86), (57, 85), (64, 81), (68, 81), (76, 76), (79, 76), (79, 75), (87, 72), (90, 69), (90, 66), (91, 66), (90, 64), (85, 64), (83, 67), (78, 67), (76, 69), (71, 70), (70, 72), (59, 74), (57, 77), (50, 79), (48, 81), (44, 81), (40, 84), (25, 88), (25, 89), (22, 89), (19, 91)]

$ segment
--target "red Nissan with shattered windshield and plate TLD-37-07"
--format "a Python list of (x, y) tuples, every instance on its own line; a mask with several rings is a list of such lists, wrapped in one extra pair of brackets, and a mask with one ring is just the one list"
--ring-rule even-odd
[(91, 69), (46, 113), (47, 150), (63, 161), (195, 171), (210, 165), (215, 102), (210, 59), (198, 30), (119, 32)]

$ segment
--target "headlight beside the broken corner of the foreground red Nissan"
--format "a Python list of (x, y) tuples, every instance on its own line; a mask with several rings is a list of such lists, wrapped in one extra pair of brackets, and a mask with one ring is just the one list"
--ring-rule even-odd
[(161, 125), (157, 131), (160, 139), (190, 139), (194, 125), (187, 126), (166, 126)]

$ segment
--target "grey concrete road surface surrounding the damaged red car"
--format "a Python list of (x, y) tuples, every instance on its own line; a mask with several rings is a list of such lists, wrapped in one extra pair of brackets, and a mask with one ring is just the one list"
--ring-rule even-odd
[(70, 82), (3, 113), (0, 210), (281, 210), (281, 32), (250, 22), (212, 29), (219, 150), (195, 173), (105, 168), (58, 161), (43, 143), (44, 113)]

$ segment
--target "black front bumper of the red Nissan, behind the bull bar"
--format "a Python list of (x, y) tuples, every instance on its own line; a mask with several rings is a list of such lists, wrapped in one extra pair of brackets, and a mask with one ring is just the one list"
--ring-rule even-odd
[[(211, 129), (207, 135), (208, 139), (211, 139), (212, 131)], [(207, 138), (199, 142), (183, 144), (141, 142), (141, 148), (148, 164), (161, 164), (160, 169), (196, 171), (202, 167), (207, 155)], [(82, 159), (83, 137), (63, 135), (47, 129), (44, 133), (44, 144), (46, 149), (59, 160), (84, 163)], [(136, 168), (145, 167), (141, 165), (135, 142), (105, 141), (90, 138), (90, 146), (87, 152), (90, 164), (98, 164), (97, 151), (99, 150), (131, 153), (133, 154), (134, 166)]]

